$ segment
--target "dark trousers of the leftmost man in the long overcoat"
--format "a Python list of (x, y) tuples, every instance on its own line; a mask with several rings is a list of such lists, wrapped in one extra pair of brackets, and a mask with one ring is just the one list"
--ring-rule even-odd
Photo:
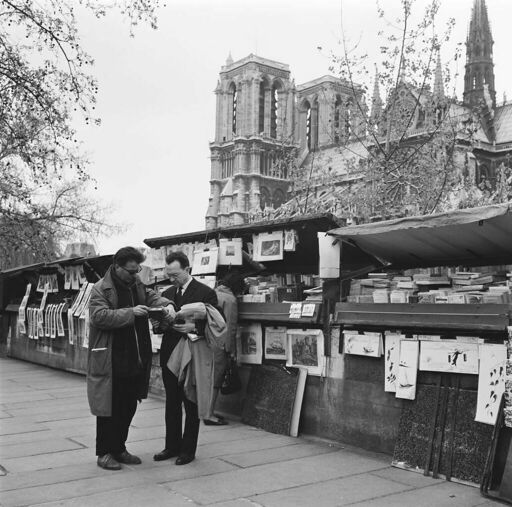
[(113, 377), (112, 416), (96, 418), (96, 456), (126, 451), (128, 429), (137, 410), (139, 377)]

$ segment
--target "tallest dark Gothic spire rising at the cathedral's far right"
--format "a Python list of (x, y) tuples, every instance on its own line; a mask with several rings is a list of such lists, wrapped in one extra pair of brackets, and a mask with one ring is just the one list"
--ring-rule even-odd
[(466, 39), (466, 72), (464, 76), (464, 103), (468, 106), (474, 107), (482, 103), (485, 87), (488, 87), (492, 106), (496, 106), (493, 44), (485, 0), (473, 0)]

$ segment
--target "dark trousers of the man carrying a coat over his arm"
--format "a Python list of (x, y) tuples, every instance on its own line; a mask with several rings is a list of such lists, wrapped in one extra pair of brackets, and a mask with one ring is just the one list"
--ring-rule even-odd
[[(165, 448), (177, 454), (195, 456), (199, 435), (197, 405), (188, 400), (177, 377), (164, 366), (162, 380), (165, 386)], [(185, 430), (183, 411), (185, 406)]]

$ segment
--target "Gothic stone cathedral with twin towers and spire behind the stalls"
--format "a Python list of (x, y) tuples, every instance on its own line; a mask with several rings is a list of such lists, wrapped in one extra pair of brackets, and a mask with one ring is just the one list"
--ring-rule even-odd
[[(510, 165), (512, 155), (512, 103), (496, 103), (493, 44), (485, 0), (474, 0), (462, 102), (444, 96), (439, 58), (431, 92), (414, 97), (402, 79), (394, 91), (403, 98), (404, 108), (419, 103), (408, 129), (411, 138), (435, 122), (437, 113), (424, 107), (425, 101), (450, 102), (458, 115), (479, 108), (481, 125), (471, 147), (475, 183), (483, 178), (492, 181), (496, 168), (502, 162)], [(289, 165), (281, 163), (287, 154), (293, 153), (302, 167), (308, 167), (314, 156), (316, 164), (343, 177), (346, 161), (337, 147), (367, 136), (368, 125), (386, 115), (377, 78), (371, 107), (366, 108), (358, 86), (328, 75), (296, 85), (288, 65), (254, 54), (238, 61), (228, 57), (215, 95), (207, 229), (243, 224), (262, 210), (283, 205), (293, 180)], [(392, 122), (383, 123), (390, 128)], [(382, 124), (378, 134), (387, 134)], [(351, 151), (357, 155), (357, 143)]]

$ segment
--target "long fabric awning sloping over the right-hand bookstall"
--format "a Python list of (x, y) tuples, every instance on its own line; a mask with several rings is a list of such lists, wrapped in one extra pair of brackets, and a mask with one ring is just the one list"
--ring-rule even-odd
[(512, 203), (341, 227), (328, 234), (397, 269), (512, 264)]

